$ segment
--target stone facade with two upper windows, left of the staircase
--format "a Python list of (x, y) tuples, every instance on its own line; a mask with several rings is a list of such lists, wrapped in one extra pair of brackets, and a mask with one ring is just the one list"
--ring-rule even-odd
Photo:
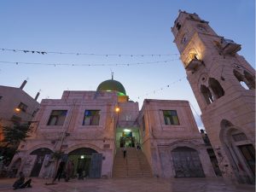
[[(78, 148), (90, 148), (102, 154), (101, 173), (110, 177), (114, 154), (114, 125), (117, 120), (115, 106), (117, 96), (114, 92), (96, 95), (96, 91), (64, 91), (61, 99), (44, 99), (34, 119), (38, 123), (33, 124), (32, 136), (26, 143), (20, 144), (20, 153), (15, 155), (15, 160), (22, 160), (20, 170), (29, 169), (27, 176), (32, 174), (33, 166), (26, 165), (26, 160), (31, 158), (32, 152), (38, 148), (49, 148), (51, 152), (61, 150), (64, 154)], [(100, 112), (100, 118), (95, 125), (84, 125), (84, 111), (87, 109)], [(60, 125), (49, 123), (53, 111), (65, 111), (65, 119)], [(43, 165), (44, 163), (39, 166), (44, 168)], [(34, 174), (36, 177), (51, 177), (53, 174), (42, 172), (44, 169), (39, 169)]]

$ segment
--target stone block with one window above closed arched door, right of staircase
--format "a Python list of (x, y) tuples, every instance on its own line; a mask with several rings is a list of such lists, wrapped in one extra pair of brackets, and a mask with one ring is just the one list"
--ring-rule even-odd
[[(177, 122), (166, 121), (165, 113), (170, 110), (177, 113)], [(195, 124), (189, 102), (147, 99), (143, 102), (139, 119), (143, 150), (154, 176), (215, 177), (206, 145)], [(176, 154), (175, 149), (179, 149)], [(190, 151), (195, 152), (195, 155), (198, 155), (196, 157), (199, 158), (194, 160), (189, 156)], [(189, 160), (190, 165), (186, 164), (185, 159)], [(183, 161), (183, 167), (181, 164), (178, 165), (177, 161)], [(194, 166), (191, 166), (192, 164)], [(189, 169), (194, 169), (193, 172), (202, 171), (202, 174), (193, 176)]]

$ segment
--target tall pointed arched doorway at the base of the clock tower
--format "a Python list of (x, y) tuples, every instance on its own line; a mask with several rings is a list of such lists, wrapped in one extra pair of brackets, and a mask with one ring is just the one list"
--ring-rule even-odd
[(232, 170), (241, 183), (254, 183), (255, 148), (246, 134), (224, 119), (221, 122), (220, 139), (228, 154)]

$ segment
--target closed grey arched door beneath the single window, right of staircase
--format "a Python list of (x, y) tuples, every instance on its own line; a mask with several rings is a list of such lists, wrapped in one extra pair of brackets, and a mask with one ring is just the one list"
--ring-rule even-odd
[(205, 177), (198, 152), (194, 148), (174, 148), (172, 161), (175, 177)]

